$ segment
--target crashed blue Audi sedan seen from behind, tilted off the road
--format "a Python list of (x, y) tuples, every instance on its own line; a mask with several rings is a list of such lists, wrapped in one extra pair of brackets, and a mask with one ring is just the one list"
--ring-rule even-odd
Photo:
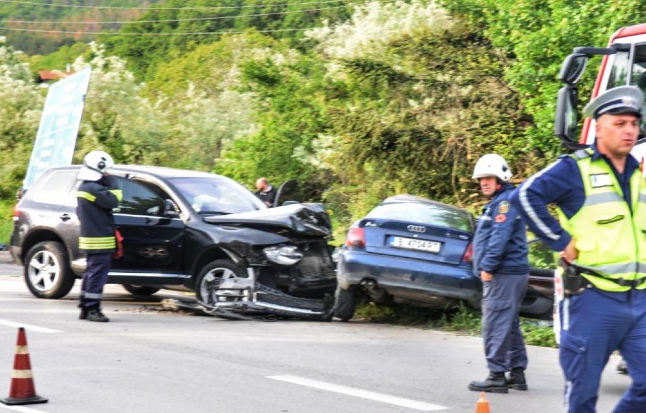
[[(479, 308), (474, 231), (474, 216), (463, 208), (407, 194), (385, 199), (348, 232), (337, 270), (335, 317), (352, 318), (360, 294), (383, 305), (448, 310), (462, 302)], [(533, 272), (521, 312), (550, 317), (552, 272)]]

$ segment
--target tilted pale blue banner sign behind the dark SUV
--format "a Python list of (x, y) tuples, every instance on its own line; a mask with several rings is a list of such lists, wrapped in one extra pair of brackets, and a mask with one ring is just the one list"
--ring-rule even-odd
[(72, 165), (91, 72), (83, 69), (50, 86), (23, 189), (32, 186), (48, 168)]

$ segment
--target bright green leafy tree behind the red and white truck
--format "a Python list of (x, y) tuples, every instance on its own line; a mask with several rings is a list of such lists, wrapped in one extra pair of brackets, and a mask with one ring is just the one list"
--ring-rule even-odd
[[(544, 165), (561, 153), (554, 137), (557, 75), (576, 46), (605, 46), (621, 26), (646, 21), (644, 1), (610, 0), (442, 0), (453, 15), (476, 25), (510, 65), (505, 79), (521, 96), (532, 148)], [(591, 62), (579, 94), (585, 101), (599, 61)], [(531, 169), (528, 168), (527, 172)]]

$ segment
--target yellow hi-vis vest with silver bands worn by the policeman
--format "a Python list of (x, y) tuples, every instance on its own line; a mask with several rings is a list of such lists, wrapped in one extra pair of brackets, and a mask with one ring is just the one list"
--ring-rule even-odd
[(592, 161), (594, 151), (578, 150), (572, 157), (581, 171), (585, 201), (567, 219), (558, 210), (561, 226), (576, 239), (575, 263), (599, 276), (583, 274), (605, 291), (646, 288), (646, 185), (640, 170), (630, 177), (632, 213), (621, 186), (604, 159)]

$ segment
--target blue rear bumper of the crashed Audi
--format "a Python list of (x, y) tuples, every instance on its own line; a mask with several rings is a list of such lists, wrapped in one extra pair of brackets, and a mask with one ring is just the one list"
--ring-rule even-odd
[(479, 307), (482, 291), (481, 281), (472, 273), (471, 267), (430, 263), (418, 259), (369, 254), (359, 250), (344, 250), (340, 254), (339, 286), (348, 289), (351, 285), (373, 281), (393, 296), (401, 294), (461, 299)]

